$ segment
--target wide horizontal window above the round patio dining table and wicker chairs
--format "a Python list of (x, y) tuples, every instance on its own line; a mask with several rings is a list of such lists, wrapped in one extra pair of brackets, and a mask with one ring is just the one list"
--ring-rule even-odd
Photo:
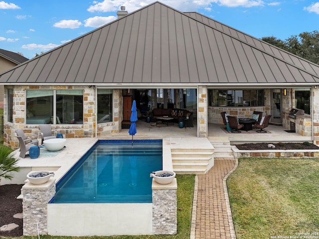
[(264, 90), (209, 90), (208, 100), (217, 107), (264, 106)]

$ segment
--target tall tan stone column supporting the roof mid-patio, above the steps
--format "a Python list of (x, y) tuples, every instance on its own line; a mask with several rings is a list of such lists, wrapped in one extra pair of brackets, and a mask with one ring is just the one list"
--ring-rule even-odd
[(206, 138), (207, 135), (207, 88), (198, 87), (198, 136)]

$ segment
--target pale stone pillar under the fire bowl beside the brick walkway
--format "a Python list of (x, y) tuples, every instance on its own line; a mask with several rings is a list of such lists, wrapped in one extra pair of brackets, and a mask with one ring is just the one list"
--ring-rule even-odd
[(153, 234), (177, 233), (177, 182), (160, 185), (153, 179)]

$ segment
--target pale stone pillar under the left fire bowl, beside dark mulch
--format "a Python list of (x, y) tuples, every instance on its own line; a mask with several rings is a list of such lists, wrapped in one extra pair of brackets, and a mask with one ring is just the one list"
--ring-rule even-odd
[(47, 234), (47, 204), (55, 195), (55, 179), (40, 185), (22, 187), (23, 236)]

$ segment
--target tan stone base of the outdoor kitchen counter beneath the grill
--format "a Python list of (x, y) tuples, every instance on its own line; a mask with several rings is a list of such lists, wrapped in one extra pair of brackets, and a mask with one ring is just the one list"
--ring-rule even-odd
[(290, 112), (283, 112), (283, 127), (286, 129), (291, 129), (291, 122), (296, 124), (296, 133), (299, 133), (303, 136), (311, 136), (312, 135), (312, 119), (308, 114), (296, 116), (296, 119), (292, 119), (289, 117)]

